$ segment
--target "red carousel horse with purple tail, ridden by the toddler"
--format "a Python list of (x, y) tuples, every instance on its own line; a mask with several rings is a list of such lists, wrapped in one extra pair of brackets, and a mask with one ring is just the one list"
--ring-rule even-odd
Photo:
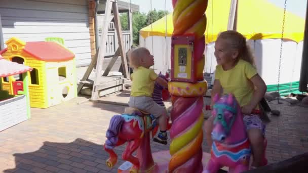
[[(168, 73), (166, 75), (160, 73), (159, 76), (168, 81)], [(153, 91), (153, 101), (164, 106), (163, 98), (169, 98), (169, 93), (167, 92), (168, 90), (164, 91), (163, 87), (156, 82)], [(157, 98), (159, 95), (160, 99)], [(149, 134), (151, 133), (152, 137), (155, 136), (158, 131), (157, 122), (153, 115), (135, 108), (126, 108), (123, 114), (114, 115), (110, 120), (106, 133), (107, 140), (104, 144), (105, 151), (109, 153), (109, 158), (106, 161), (107, 166), (112, 168), (117, 163), (118, 156), (114, 153), (113, 148), (127, 142), (128, 144), (122, 154), (122, 159), (133, 164), (130, 172), (138, 172), (140, 169), (150, 169), (153, 167)], [(170, 126), (171, 124), (168, 124), (167, 129), (170, 129)], [(138, 148), (140, 149), (139, 154), (142, 155), (142, 160), (138, 156), (132, 155)]]

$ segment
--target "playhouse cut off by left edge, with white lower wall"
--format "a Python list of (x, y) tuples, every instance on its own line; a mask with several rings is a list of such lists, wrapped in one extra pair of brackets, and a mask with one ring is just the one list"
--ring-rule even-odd
[[(0, 55), (0, 131), (30, 118), (28, 71), (31, 70)], [(13, 81), (13, 78), (20, 80)], [(10, 88), (3, 80), (10, 82)], [(10, 89), (10, 92), (5, 89)]]

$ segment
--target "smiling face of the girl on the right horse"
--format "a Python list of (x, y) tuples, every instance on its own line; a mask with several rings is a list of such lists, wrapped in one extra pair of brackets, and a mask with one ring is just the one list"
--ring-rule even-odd
[(217, 39), (214, 55), (218, 65), (225, 65), (236, 60), (238, 51), (232, 49), (227, 40)]

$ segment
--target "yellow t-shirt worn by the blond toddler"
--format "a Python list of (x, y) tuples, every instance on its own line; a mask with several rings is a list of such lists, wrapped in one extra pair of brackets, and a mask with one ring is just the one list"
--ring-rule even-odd
[(158, 75), (153, 69), (144, 68), (142, 66), (135, 69), (131, 75), (132, 89), (131, 96), (147, 96), (152, 97), (155, 80)]

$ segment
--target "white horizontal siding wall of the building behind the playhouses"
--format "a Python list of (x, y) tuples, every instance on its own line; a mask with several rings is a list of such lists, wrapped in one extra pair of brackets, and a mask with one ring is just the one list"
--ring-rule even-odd
[(76, 65), (91, 61), (87, 0), (1, 0), (4, 41), (15, 36), (24, 41), (61, 37), (76, 55)]

